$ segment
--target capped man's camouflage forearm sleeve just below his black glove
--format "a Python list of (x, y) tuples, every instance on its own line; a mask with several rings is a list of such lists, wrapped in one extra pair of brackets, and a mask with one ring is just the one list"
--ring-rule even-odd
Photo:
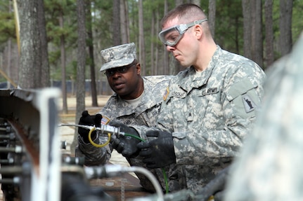
[[(94, 140), (96, 144), (101, 144), (101, 141), (100, 138)], [(82, 137), (78, 137), (76, 156), (85, 157), (85, 165), (87, 166), (104, 165), (110, 160), (111, 153), (112, 148), (110, 148), (110, 145), (98, 148), (90, 143), (85, 143)]]

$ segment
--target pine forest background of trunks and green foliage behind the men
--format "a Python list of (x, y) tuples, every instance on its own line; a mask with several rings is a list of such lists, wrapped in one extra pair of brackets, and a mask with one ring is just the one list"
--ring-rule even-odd
[(303, 0), (0, 0), (0, 83), (35, 89), (59, 82), (63, 113), (67, 95), (77, 99), (77, 123), (85, 95), (98, 106), (98, 95), (112, 94), (99, 72), (101, 50), (136, 43), (143, 76), (182, 69), (157, 34), (165, 13), (183, 3), (201, 6), (221, 48), (264, 70), (290, 53), (303, 29)]

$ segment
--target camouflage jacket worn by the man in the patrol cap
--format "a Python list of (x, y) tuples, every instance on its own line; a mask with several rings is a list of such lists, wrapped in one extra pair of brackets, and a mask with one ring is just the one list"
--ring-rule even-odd
[[(155, 125), (156, 118), (160, 112), (160, 106), (163, 100), (163, 94), (169, 84), (169, 79), (173, 76), (146, 76), (143, 77), (144, 92), (141, 99), (141, 103), (134, 108), (131, 104), (125, 102), (118, 95), (112, 95), (108, 102), (105, 104), (100, 113), (103, 116), (103, 123), (108, 123), (110, 120), (118, 120), (126, 125)], [(112, 147), (106, 146), (104, 148), (96, 148), (91, 144), (85, 144), (81, 137), (79, 137), (79, 146), (77, 149), (77, 155), (85, 155), (86, 165), (102, 165), (108, 162), (111, 157)], [(96, 139), (96, 143), (104, 143), (106, 139)], [(141, 161), (141, 158), (127, 158), (130, 165), (145, 167), (146, 165)], [(160, 184), (163, 190), (166, 190), (166, 184), (162, 169), (149, 169), (152, 172)], [(174, 175), (174, 168), (165, 168), (165, 172), (169, 178), (169, 190), (178, 190), (179, 183), (176, 182), (176, 176)], [(146, 190), (154, 191), (152, 183), (143, 176), (137, 174), (140, 179), (141, 185)]]

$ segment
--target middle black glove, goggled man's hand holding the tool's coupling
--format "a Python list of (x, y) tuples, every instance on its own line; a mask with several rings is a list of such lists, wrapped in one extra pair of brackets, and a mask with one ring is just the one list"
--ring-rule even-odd
[(137, 144), (141, 141), (136, 137), (139, 136), (138, 132), (132, 127), (128, 127), (123, 123), (119, 123), (117, 121), (110, 121), (110, 125), (115, 127), (120, 127), (120, 131), (124, 132), (125, 134), (133, 135), (134, 137), (120, 135), (119, 138), (112, 138), (110, 143), (112, 147), (117, 150), (118, 153), (122, 153), (124, 157), (127, 158), (134, 158), (138, 155), (138, 148)]

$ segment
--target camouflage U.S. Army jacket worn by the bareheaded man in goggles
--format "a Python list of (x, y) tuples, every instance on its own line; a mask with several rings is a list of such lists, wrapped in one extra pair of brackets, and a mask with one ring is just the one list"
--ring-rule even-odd
[[(198, 193), (231, 163), (252, 130), (265, 78), (257, 64), (218, 46), (202, 74), (189, 67), (172, 79), (151, 129), (172, 132), (183, 188)], [(135, 128), (142, 136), (150, 129)]]

